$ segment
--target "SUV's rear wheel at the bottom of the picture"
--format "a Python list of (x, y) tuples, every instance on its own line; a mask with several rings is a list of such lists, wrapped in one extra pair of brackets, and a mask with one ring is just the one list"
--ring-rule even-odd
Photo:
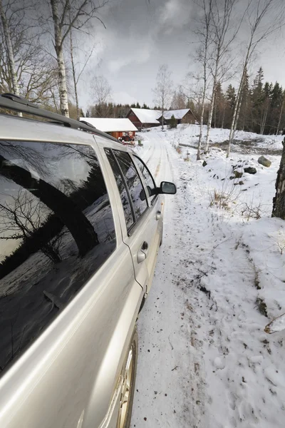
[(118, 428), (129, 428), (132, 417), (133, 396), (135, 393), (135, 375), (138, 363), (138, 332), (135, 329), (123, 368), (123, 385), (120, 398)]

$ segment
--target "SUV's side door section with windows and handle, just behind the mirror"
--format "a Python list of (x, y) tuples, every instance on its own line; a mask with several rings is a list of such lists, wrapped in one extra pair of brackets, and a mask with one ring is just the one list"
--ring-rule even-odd
[(135, 278), (147, 292), (150, 289), (160, 243), (161, 228), (155, 211), (157, 204), (151, 203), (145, 180), (138, 172), (130, 153), (123, 148), (118, 149), (117, 146), (108, 147), (106, 143), (104, 146), (106, 161), (115, 175), (115, 187), (120, 193), (120, 205), (123, 206), (123, 241), (130, 248)]

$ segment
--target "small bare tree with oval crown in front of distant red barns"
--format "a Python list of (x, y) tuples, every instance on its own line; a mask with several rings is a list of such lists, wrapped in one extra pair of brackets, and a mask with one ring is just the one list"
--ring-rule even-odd
[(156, 86), (153, 89), (154, 93), (154, 103), (159, 106), (162, 110), (162, 130), (164, 129), (164, 113), (167, 108), (170, 108), (172, 101), (172, 80), (171, 80), (171, 71), (169, 71), (168, 66), (163, 64), (158, 68), (156, 76)]

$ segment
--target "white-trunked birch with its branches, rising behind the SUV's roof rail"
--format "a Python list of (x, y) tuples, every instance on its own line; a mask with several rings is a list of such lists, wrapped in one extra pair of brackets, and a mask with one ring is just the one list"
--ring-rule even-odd
[(69, 116), (66, 64), (63, 55), (64, 43), (71, 29), (83, 31), (93, 19), (97, 19), (103, 24), (103, 21), (98, 16), (98, 11), (107, 3), (108, 0), (50, 0), (53, 21), (53, 46), (58, 63), (58, 86), (63, 116)]

